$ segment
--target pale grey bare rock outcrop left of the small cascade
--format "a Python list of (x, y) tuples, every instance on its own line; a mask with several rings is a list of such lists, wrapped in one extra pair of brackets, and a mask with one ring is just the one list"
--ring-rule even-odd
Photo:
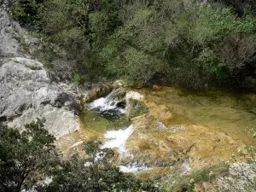
[(79, 129), (76, 90), (51, 82), (44, 65), (15, 57), (0, 67), (0, 121), (20, 126), (45, 118), (45, 128), (55, 137)]

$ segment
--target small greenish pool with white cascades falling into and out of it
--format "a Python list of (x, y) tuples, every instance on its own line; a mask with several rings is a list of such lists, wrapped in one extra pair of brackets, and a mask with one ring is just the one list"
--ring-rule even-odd
[(108, 96), (96, 99), (87, 105), (89, 110), (80, 113), (79, 131), (61, 137), (57, 146), (64, 153), (72, 151), (86, 141), (101, 140), (104, 148), (118, 148), (125, 153), (125, 142), (131, 136), (133, 128), (126, 117), (124, 105), (120, 105), (113, 90)]

